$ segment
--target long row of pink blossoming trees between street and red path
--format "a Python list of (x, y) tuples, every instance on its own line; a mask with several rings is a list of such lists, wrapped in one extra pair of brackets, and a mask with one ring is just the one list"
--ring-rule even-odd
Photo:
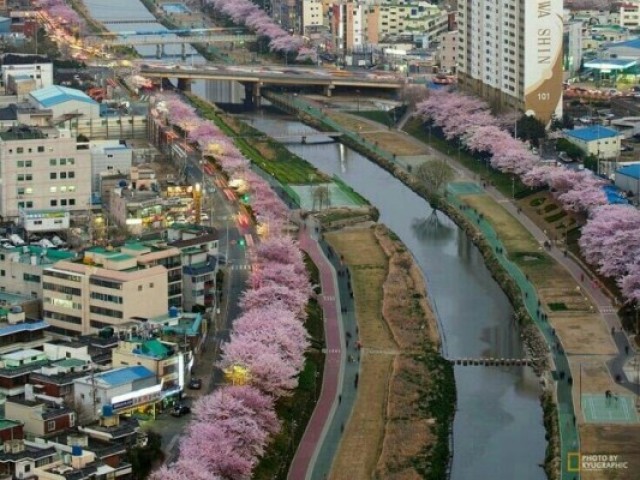
[(269, 219), (271, 228), (270, 236), (256, 248), (256, 263), (240, 298), (242, 314), (233, 323), (217, 365), (225, 372), (241, 369), (246, 375), (240, 384), (218, 388), (196, 402), (178, 460), (151, 478), (250, 478), (269, 438), (280, 428), (275, 401), (297, 386), (304, 366), (309, 278), (296, 242), (277, 233), (276, 226), (287, 217), (285, 205), (264, 180), (248, 170), (249, 162), (231, 141), (178, 96), (163, 96), (156, 111), (164, 111), (172, 125), (213, 155), (226, 175), (249, 182), (252, 208)]

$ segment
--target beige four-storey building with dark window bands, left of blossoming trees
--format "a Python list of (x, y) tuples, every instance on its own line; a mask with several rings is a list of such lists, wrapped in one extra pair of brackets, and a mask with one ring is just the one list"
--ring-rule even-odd
[(82, 263), (61, 261), (44, 270), (43, 317), (52, 333), (97, 333), (166, 312), (167, 285), (163, 266), (140, 267), (121, 252), (87, 252)]

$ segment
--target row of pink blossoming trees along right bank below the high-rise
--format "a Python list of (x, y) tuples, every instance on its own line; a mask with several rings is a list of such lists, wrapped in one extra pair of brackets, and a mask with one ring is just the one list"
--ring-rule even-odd
[(607, 205), (607, 182), (588, 170), (539, 165), (539, 158), (513, 138), (491, 115), (489, 106), (453, 91), (431, 92), (417, 112), (469, 151), (489, 159), (497, 170), (531, 187), (549, 187), (562, 206), (587, 215), (580, 247), (602, 275), (618, 281), (627, 300), (640, 302), (640, 212), (627, 205)]

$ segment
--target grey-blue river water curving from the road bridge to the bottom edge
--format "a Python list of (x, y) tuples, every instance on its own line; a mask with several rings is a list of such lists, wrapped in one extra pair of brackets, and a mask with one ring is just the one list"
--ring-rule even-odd
[[(260, 111), (243, 118), (267, 134), (314, 132), (292, 117)], [(344, 145), (291, 144), (319, 170), (338, 175), (380, 211), (427, 281), (448, 358), (524, 356), (508, 299), (467, 235), (388, 172)], [(455, 368), (453, 480), (541, 480), (545, 431), (539, 383), (528, 367)]]

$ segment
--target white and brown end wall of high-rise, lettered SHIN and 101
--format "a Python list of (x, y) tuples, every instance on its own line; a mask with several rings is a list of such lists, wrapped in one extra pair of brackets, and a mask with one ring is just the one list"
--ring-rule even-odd
[(544, 123), (562, 116), (562, 0), (526, 0), (525, 112)]

